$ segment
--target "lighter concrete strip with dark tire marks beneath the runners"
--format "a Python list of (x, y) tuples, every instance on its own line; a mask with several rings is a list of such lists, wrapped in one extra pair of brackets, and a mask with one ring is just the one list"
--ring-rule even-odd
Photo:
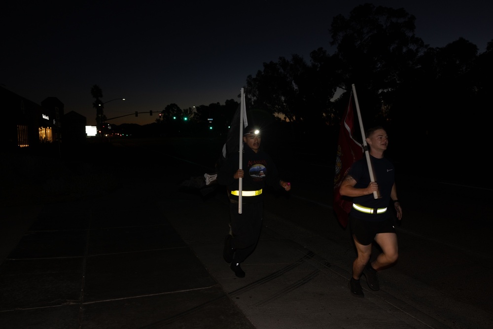
[(355, 298), (349, 270), (283, 237), (277, 232), (282, 219), (269, 213), (256, 250), (242, 263), (246, 277), (237, 278), (222, 258), (227, 200), (173, 204), (161, 203), (163, 212), (255, 328), (448, 328), (412, 307), (392, 304), (385, 292), (365, 288), (364, 279), (365, 298)]

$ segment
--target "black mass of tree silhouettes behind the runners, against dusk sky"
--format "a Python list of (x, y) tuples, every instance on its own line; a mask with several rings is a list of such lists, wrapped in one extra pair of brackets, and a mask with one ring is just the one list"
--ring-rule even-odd
[[(338, 129), (355, 84), (365, 128), (384, 125), (390, 145), (401, 146), (407, 160), (415, 160), (408, 149), (416, 145), (422, 145), (423, 156), (441, 161), (457, 147), (471, 149), (465, 139), (451, 143), (450, 134), (487, 139), (489, 120), (483, 117), (491, 107), (493, 40), (482, 54), (463, 38), (430, 48), (415, 35), (415, 21), (403, 8), (369, 3), (348, 17), (337, 15), (329, 30), (335, 53), (320, 47), (309, 63), (296, 54), (264, 62), (246, 77), (247, 109), (276, 115), (279, 126), (298, 138), (326, 141), (337, 134), (318, 132)], [(196, 118), (224, 120), (238, 107), (231, 101), (228, 110), (219, 103), (201, 105)]]

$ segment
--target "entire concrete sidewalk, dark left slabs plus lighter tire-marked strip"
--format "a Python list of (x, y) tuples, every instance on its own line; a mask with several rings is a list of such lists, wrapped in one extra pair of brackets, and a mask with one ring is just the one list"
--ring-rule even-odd
[(237, 278), (222, 258), (225, 197), (176, 189), (45, 206), (0, 266), (0, 327), (447, 328), (364, 279), (353, 297), (348, 269), (271, 213)]

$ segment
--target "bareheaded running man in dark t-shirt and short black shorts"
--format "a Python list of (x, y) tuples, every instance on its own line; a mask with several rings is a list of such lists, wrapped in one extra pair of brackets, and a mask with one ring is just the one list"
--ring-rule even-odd
[[(357, 257), (352, 264), (352, 278), (349, 286), (352, 294), (364, 297), (359, 283), (362, 274), (370, 289), (377, 291), (380, 284), (377, 271), (387, 268), (397, 260), (397, 235), (394, 219), (387, 211), (392, 201), (397, 219), (402, 219), (402, 209), (397, 198), (394, 182), (394, 166), (384, 152), (388, 146), (388, 136), (384, 128), (377, 126), (366, 131), (366, 143), (375, 181), (370, 181), (366, 157), (354, 162), (339, 187), (341, 195), (352, 197), (352, 209), (349, 223), (356, 246)], [(373, 192), (378, 191), (380, 198), (375, 199)], [(370, 261), (372, 243), (375, 241), (382, 253)]]

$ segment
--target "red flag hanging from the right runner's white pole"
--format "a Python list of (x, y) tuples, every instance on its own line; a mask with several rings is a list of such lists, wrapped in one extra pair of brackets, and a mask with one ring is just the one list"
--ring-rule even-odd
[(337, 144), (336, 172), (334, 176), (334, 211), (337, 219), (343, 227), (348, 225), (348, 216), (352, 207), (351, 198), (339, 193), (339, 186), (351, 168), (351, 165), (363, 157), (363, 147), (352, 137), (354, 115), (352, 113), (352, 93), (349, 99), (348, 110), (343, 116), (339, 129), (339, 141)]

